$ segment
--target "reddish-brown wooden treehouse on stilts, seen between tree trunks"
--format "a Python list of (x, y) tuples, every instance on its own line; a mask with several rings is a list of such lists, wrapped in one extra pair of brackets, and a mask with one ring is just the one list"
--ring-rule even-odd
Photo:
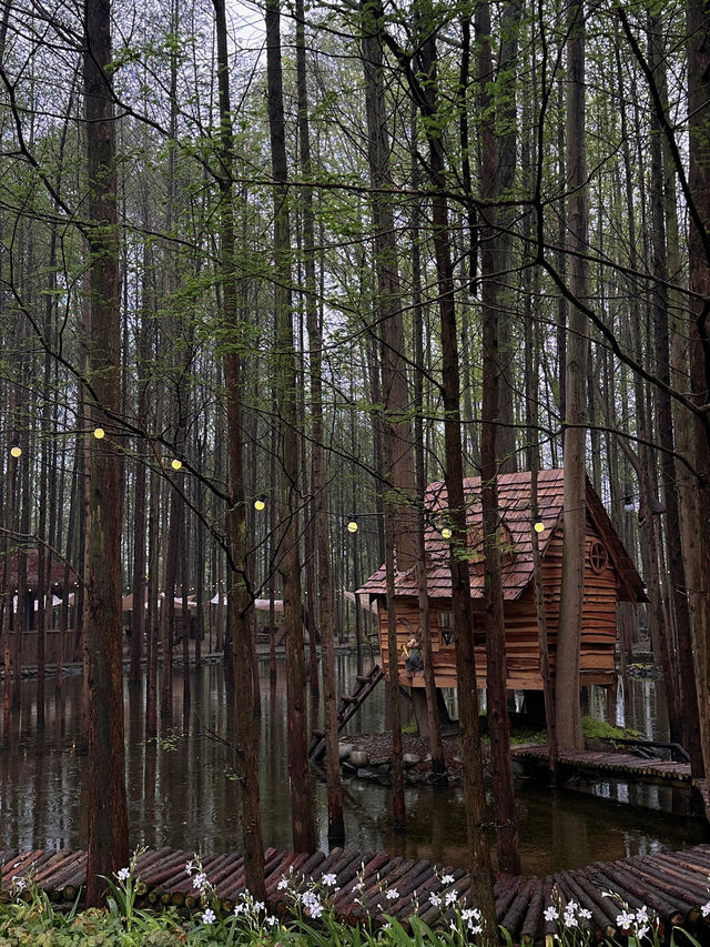
[[(486, 681), (484, 632), (484, 550), (481, 530), (480, 477), (465, 481), (469, 546), (470, 596), (474, 609), (476, 673), (480, 686)], [(545, 530), (539, 534), (545, 611), (550, 652), (555, 668), (559, 597), (562, 575), (564, 477), (561, 470), (538, 474), (538, 516)], [(506, 665), (509, 688), (541, 691), (538, 625), (532, 575), (532, 515), (530, 473), (501, 474), (498, 477), (499, 537), (505, 606)], [(447, 500), (444, 483), (427, 487), (429, 510), (426, 530), (426, 576), (435, 681), (438, 687), (456, 686), (452, 612), (449, 542), (446, 533)], [(615, 532), (601, 501), (587, 481), (585, 598), (580, 651), (580, 683), (610, 684), (615, 681), (617, 603), (635, 605), (646, 601), (643, 584)], [(408, 639), (419, 627), (415, 568), (398, 573), (395, 580), (397, 646), (402, 683), (424, 687), (423, 672), (407, 674), (405, 653)], [(377, 603), (379, 648), (385, 672), (388, 666), (385, 567), (364, 584), (361, 594)]]

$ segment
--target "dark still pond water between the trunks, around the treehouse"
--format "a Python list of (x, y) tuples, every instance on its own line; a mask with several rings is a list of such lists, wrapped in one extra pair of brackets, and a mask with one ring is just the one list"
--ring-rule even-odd
[[(351, 689), (354, 657), (338, 657), (338, 693)], [(47, 698), (47, 728), (37, 734), (36, 682), (22, 685), (23, 706), (13, 716), (11, 749), (0, 752), (0, 848), (85, 847), (87, 759), (77, 755), (81, 724), (80, 677), (64, 681), (61, 696)], [(144, 738), (143, 688), (125, 692), (126, 778), (131, 846), (171, 846), (186, 852), (224, 852), (240, 847), (239, 784), (234, 778), (233, 719), (222, 666), (206, 665), (192, 675), (192, 702), (182, 705), (182, 681), (174, 681), (172, 722), (161, 724), (158, 741)], [(637, 681), (622, 703), (592, 694), (589, 712), (667, 739), (660, 688)], [(351, 733), (386, 728), (384, 687), (379, 687), (348, 725)], [(261, 787), (264, 842), (290, 849), (284, 666), (268, 684), (262, 664)], [(357, 778), (344, 780), (346, 844), (364, 850), (386, 849), (412, 858), (465, 866), (466, 828), (459, 785), (433, 790), (417, 784), (406, 790), (404, 836), (392, 828), (388, 786)], [(678, 814), (678, 800), (662, 787), (601, 784), (598, 797), (516, 786), (524, 870), (547, 874), (597, 859), (621, 858), (706, 840), (702, 819)], [(327, 849), (325, 785), (315, 778), (321, 846)], [(651, 804), (649, 810), (633, 803)], [(661, 809), (667, 809), (663, 812)], [(676, 810), (676, 812), (673, 812)]]

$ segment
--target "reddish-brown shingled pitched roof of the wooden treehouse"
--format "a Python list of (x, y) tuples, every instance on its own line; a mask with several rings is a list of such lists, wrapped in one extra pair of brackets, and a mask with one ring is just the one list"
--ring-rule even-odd
[[(645, 602), (643, 583), (626, 552), (604, 505), (586, 478), (587, 521), (604, 543), (618, 577), (618, 597), (625, 602)], [(469, 573), (471, 598), (484, 597), (483, 511), (480, 477), (464, 480), (466, 524), (468, 528)], [(447, 525), (446, 485), (439, 481), (426, 488), (425, 504), (428, 522), (425, 530), (427, 590), (430, 598), (450, 598), (449, 542), (442, 536)], [(564, 472), (548, 470), (538, 473), (537, 518), (545, 524), (540, 534), (540, 555), (556, 533), (564, 528)], [(532, 514), (530, 508), (530, 472), (499, 474), (498, 534), (501, 545), (501, 581), (505, 601), (519, 598), (532, 581)], [(385, 566), (381, 566), (364, 584), (361, 592), (385, 595)], [(417, 594), (416, 570), (397, 573), (395, 594)]]

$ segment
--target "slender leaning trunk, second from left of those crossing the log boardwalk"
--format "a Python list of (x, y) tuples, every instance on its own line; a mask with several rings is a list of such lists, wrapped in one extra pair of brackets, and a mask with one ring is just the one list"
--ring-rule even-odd
[(242, 839), (244, 844), (244, 877), (254, 897), (263, 899), (264, 843), (262, 837), (258, 788), (258, 725), (254, 716), (252, 677), (252, 596), (248, 588), (246, 562), (246, 511), (244, 501), (244, 469), (242, 456), (241, 347), (242, 325), (237, 309), (234, 245), (234, 193), (232, 165), (234, 139), (230, 99), (230, 63), (224, 0), (213, 0), (217, 39), (217, 81), (220, 90), (220, 168), (221, 192), (220, 253), (222, 304), (227, 328), (224, 356), (226, 385), (227, 463), (230, 504), (227, 527), (229, 621), (231, 624), (232, 663), (234, 668), (234, 701), (236, 724), (236, 772), (240, 775), (242, 803)]

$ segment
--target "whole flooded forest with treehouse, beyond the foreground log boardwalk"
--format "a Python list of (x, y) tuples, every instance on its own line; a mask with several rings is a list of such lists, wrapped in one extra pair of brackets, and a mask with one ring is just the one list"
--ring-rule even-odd
[(0, 849), (704, 840), (709, 27), (0, 0)]

